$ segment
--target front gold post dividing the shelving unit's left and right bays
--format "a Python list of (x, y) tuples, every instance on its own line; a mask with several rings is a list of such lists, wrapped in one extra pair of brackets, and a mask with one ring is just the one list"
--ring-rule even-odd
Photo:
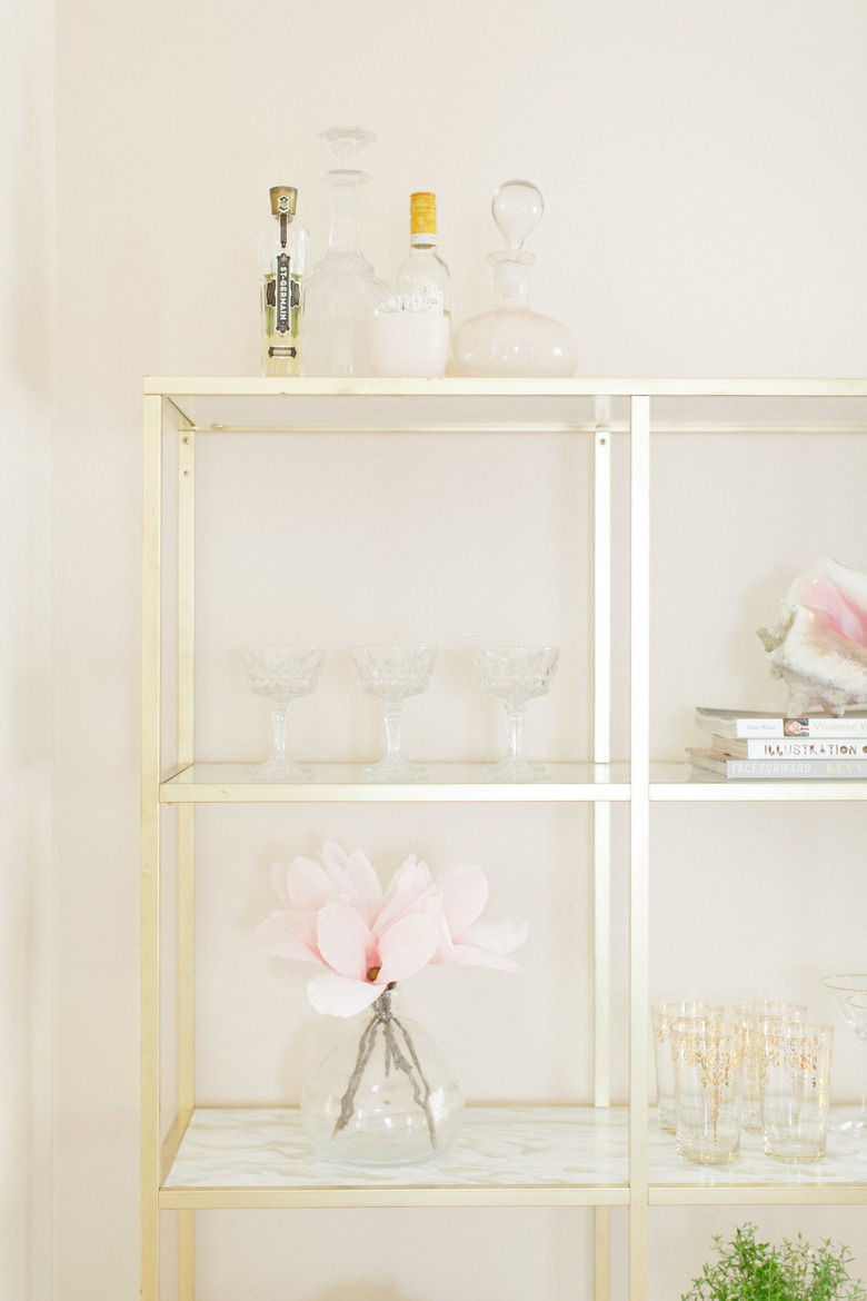
[(633, 397), (630, 436), (629, 1297), (647, 1296), (647, 1000), (650, 853), (650, 398)]

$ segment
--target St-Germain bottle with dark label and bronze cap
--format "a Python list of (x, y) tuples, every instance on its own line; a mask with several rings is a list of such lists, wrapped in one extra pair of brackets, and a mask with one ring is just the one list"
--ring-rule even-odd
[(298, 190), (270, 190), (270, 217), (259, 228), (263, 375), (300, 375), (307, 230), (295, 220)]

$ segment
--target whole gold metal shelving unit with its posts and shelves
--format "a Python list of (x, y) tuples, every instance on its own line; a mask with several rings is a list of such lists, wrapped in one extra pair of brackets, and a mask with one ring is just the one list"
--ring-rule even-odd
[[(624, 1207), (629, 1296), (647, 1296), (649, 1210), (663, 1205), (867, 1203), (857, 1163), (815, 1174), (770, 1171), (747, 1159), (737, 1174), (684, 1171), (649, 1124), (649, 852), (655, 803), (863, 800), (863, 783), (702, 783), (685, 765), (651, 762), (650, 466), (656, 432), (688, 436), (764, 432), (820, 436), (867, 432), (867, 381), (742, 380), (250, 380), (153, 379), (144, 385), (143, 761), (142, 761), (142, 1297), (165, 1301), (161, 1215), (177, 1216), (177, 1298), (195, 1291), (198, 1210), (296, 1206), (580, 1206), (595, 1218), (595, 1297), (610, 1294), (610, 1222)], [(316, 781), (263, 786), (233, 762), (196, 761), (194, 736), (195, 449), (200, 438), (304, 432), (565, 433), (593, 442), (591, 753), (554, 765), (549, 783), (497, 786), (473, 765), (434, 765), (412, 786), (373, 786), (352, 765), (321, 765)], [(629, 764), (612, 762), (611, 461), (612, 435), (629, 442)], [(385, 446), (387, 455), (387, 438)], [(168, 559), (166, 559), (168, 557)], [(172, 605), (177, 691), (166, 701), (164, 617)], [(173, 687), (174, 687), (173, 680)], [(164, 722), (169, 719), (170, 722)], [(335, 1177), (304, 1149), (296, 1115), (273, 1108), (198, 1105), (194, 1062), (194, 811), (199, 804), (315, 801), (581, 803), (591, 808), (595, 1002), (594, 1090), (585, 1107), (471, 1111), (460, 1160), (430, 1174)], [(629, 1095), (611, 1106), (607, 1002), (611, 978), (611, 811), (629, 811)], [(172, 1088), (164, 1080), (161, 945), (164, 814), (177, 848), (170, 877), (177, 961)], [(278, 1125), (287, 1160), (268, 1163)], [(491, 1145), (491, 1136), (495, 1142)], [(503, 1157), (503, 1151), (507, 1157)]]

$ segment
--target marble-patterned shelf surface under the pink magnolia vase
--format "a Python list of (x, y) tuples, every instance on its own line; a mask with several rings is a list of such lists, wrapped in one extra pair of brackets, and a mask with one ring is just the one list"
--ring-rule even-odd
[(344, 1166), (318, 1157), (298, 1111), (196, 1110), (166, 1188), (512, 1188), (627, 1183), (627, 1112), (590, 1107), (471, 1107), (442, 1159)]

